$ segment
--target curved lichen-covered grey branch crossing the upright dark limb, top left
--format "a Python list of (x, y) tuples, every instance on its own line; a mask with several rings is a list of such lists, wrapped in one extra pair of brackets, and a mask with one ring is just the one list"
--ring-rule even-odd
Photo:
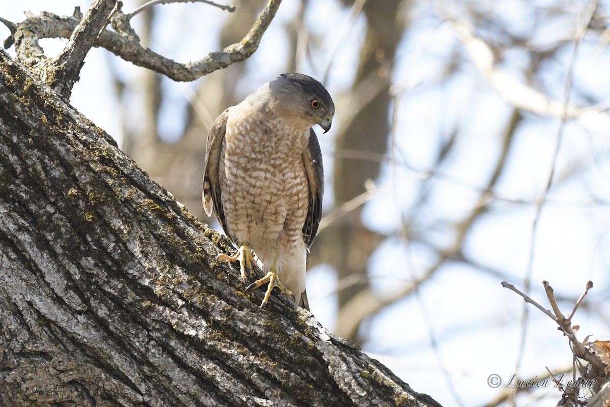
[[(145, 48), (129, 23), (129, 15), (119, 8), (110, 18), (114, 31), (104, 31), (93, 43), (139, 67), (148, 68), (170, 77), (174, 81), (194, 81), (212, 71), (226, 68), (251, 56), (258, 49), (262, 35), (278, 11), (281, 0), (269, 0), (256, 22), (239, 42), (222, 51), (210, 52), (196, 62), (179, 63)], [(41, 38), (70, 38), (81, 21), (81, 15), (57, 16), (42, 12), (39, 16), (27, 14), (27, 20), (16, 24), (13, 37), (18, 59), (34, 69), (40, 77), (46, 76), (44, 51), (38, 45)], [(10, 41), (9, 41), (10, 43)], [(43, 69), (40, 69), (43, 65)]]

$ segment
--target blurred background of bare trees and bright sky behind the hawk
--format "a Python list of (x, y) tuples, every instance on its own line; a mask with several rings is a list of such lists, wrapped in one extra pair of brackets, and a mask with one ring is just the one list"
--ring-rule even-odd
[[(134, 20), (145, 45), (184, 62), (242, 38), (264, 3), (159, 5)], [(56, 6), (10, 12), (74, 4)], [(547, 279), (568, 311), (590, 279), (579, 335), (609, 334), (608, 6), (285, 0), (245, 63), (184, 84), (97, 50), (72, 103), (214, 225), (201, 207), (214, 118), (279, 73), (317, 77), (337, 115), (320, 135), (312, 312), (445, 405), (550, 405), (554, 387), (504, 386), (570, 370), (567, 340), (500, 282), (544, 298)]]

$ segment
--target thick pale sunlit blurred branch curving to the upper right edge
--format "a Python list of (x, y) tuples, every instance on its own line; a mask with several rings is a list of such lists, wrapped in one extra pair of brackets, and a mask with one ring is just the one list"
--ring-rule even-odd
[(476, 37), (475, 29), (470, 23), (465, 20), (450, 21), (456, 36), (462, 41), (475, 67), (509, 103), (519, 109), (541, 116), (562, 118), (565, 114), (565, 119), (574, 119), (592, 132), (610, 135), (610, 115), (608, 113), (591, 107), (576, 106), (573, 103), (564, 106), (563, 101), (550, 99), (544, 93), (522, 84), (493, 65), (492, 49), (485, 41)]

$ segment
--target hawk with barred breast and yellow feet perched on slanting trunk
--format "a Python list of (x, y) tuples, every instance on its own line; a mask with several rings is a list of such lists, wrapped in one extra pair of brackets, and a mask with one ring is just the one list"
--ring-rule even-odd
[(315, 124), (327, 132), (335, 112), (320, 82), (282, 74), (217, 117), (207, 136), (203, 206), (212, 209), (225, 234), (239, 247), (234, 256), (246, 278), (256, 253), (269, 283), (309, 309), (306, 252), (321, 217), (324, 176)]

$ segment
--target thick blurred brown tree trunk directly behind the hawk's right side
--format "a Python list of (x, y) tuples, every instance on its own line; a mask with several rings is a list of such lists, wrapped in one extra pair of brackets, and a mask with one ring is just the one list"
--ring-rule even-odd
[[(353, 0), (343, 0), (342, 3), (354, 5)], [(400, 15), (405, 3), (396, 0), (357, 1), (352, 9), (351, 15), (354, 16), (362, 6), (367, 28), (364, 40), (359, 46), (359, 59), (350, 98), (341, 98), (337, 104), (342, 123), (335, 139), (335, 148), (339, 151), (349, 149), (374, 154), (384, 154), (387, 151), (387, 137), (390, 134), (387, 115), (392, 103), (389, 92), (392, 70), (404, 28), (409, 24), (408, 13)], [(346, 22), (345, 32), (348, 32), (354, 22), (353, 19)], [(367, 180), (377, 178), (380, 170), (381, 165), (374, 160), (353, 160), (336, 156), (332, 169), (336, 206), (342, 206), (364, 193)], [(323, 245), (325, 247), (320, 251), (320, 258), (328, 261), (328, 264), (337, 270), (338, 279), (357, 276), (354, 280), (358, 283), (345, 287), (337, 295), (340, 314), (345, 304), (352, 303), (351, 300), (356, 298), (359, 292), (370, 288), (367, 260), (382, 241), (379, 234), (362, 225), (360, 215), (358, 207), (318, 237), (322, 242), (328, 239), (326, 241), (329, 244)], [(350, 239), (345, 239), (346, 236)], [(341, 318), (337, 318), (337, 326), (342, 323)], [(351, 332), (357, 333), (357, 328)], [(355, 334), (350, 338), (360, 340)]]

